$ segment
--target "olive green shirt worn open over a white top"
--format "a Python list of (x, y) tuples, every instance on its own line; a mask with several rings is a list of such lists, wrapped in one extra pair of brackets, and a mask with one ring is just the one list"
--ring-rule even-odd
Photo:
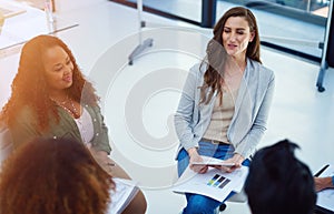
[[(104, 123), (99, 106), (82, 105), (91, 116), (94, 125), (94, 137), (90, 141), (91, 146), (96, 151), (105, 151), (108, 154), (111, 151), (108, 139), (108, 129)], [(13, 146), (32, 141), (35, 137), (52, 137), (52, 139), (73, 139), (77, 142), (82, 142), (79, 129), (75, 120), (62, 108), (57, 106), (60, 120), (50, 120), (50, 130), (47, 133), (41, 133), (36, 129), (37, 120), (30, 108), (26, 106), (17, 116), (16, 125), (10, 129), (11, 141)]]

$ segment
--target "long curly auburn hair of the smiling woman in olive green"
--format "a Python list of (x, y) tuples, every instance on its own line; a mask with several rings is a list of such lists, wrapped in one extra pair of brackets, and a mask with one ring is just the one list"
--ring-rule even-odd
[(73, 64), (73, 83), (67, 89), (69, 96), (89, 105), (97, 105), (99, 98), (95, 89), (80, 71), (70, 49), (57, 37), (38, 35), (29, 40), (22, 48), (18, 73), (11, 84), (11, 98), (3, 106), (0, 120), (7, 125), (14, 125), (14, 119), (22, 108), (29, 106), (37, 118), (37, 129), (48, 131), (50, 116), (59, 121), (57, 108), (49, 98), (45, 77), (43, 53), (47, 49), (60, 47), (69, 55)]

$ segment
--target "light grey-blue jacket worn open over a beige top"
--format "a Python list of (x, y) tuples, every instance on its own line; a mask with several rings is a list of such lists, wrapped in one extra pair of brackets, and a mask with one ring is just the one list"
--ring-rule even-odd
[[(208, 104), (200, 103), (200, 89), (206, 65), (195, 64), (187, 77), (174, 122), (184, 147), (198, 147), (209, 125), (217, 92)], [(227, 139), (235, 153), (248, 157), (254, 153), (266, 131), (269, 106), (275, 88), (274, 72), (261, 63), (247, 59), (247, 65), (239, 85), (235, 113), (227, 130)], [(208, 93), (208, 91), (207, 91)], [(178, 152), (179, 152), (178, 150)]]

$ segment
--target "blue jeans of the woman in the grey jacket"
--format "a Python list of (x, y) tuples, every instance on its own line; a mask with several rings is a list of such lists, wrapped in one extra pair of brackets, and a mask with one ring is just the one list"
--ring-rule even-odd
[[(234, 147), (233, 145), (218, 145), (210, 142), (199, 142), (198, 154), (205, 156), (213, 156), (215, 159), (226, 160), (233, 156)], [(249, 160), (245, 160), (243, 165), (248, 166)], [(184, 171), (189, 165), (188, 152), (184, 149), (180, 150), (177, 156), (177, 170), (178, 176), (180, 176)], [(230, 197), (235, 193), (232, 192), (228, 196)], [(216, 201), (212, 197), (204, 195), (186, 193), (187, 206), (184, 208), (183, 214), (214, 214), (215, 210), (224, 202)]]

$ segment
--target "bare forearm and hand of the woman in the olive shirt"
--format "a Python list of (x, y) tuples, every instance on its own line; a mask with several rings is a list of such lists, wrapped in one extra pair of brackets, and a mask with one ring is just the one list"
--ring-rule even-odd
[(96, 151), (91, 147), (91, 144), (87, 144), (87, 149), (90, 154), (94, 156), (95, 161), (104, 169), (108, 174), (112, 176), (112, 167), (116, 166), (115, 162), (108, 156), (108, 153), (105, 151)]

